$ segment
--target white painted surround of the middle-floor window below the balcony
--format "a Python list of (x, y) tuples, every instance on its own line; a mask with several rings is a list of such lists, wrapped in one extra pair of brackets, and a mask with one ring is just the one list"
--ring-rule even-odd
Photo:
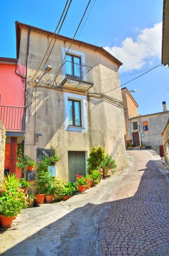
[[(74, 93), (64, 93), (65, 95), (65, 130), (66, 131), (76, 131), (76, 132), (87, 132), (87, 101), (86, 96), (74, 94)], [(74, 99), (80, 101), (81, 106), (81, 121), (82, 127), (69, 126), (68, 120), (68, 99)]]

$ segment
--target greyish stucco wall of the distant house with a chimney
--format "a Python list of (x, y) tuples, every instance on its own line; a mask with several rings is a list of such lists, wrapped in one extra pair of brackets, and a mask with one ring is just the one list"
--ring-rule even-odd
[[(165, 128), (167, 120), (169, 119), (169, 111), (163, 112), (161, 114), (154, 114), (151, 116), (139, 116), (138, 118), (130, 120), (130, 136), (132, 137), (132, 132), (138, 130), (133, 129), (133, 122), (138, 121), (138, 128), (143, 131), (143, 122), (148, 122), (149, 131), (144, 131), (144, 137), (142, 137), (142, 142), (153, 142), (158, 145), (163, 145), (161, 133)], [(139, 133), (140, 136), (140, 133)], [(141, 145), (141, 144), (140, 144)]]

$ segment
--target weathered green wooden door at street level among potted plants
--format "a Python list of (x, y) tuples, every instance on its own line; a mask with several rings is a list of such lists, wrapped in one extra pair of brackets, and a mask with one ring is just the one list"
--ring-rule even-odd
[(76, 180), (76, 174), (86, 175), (85, 151), (68, 151), (69, 182)]

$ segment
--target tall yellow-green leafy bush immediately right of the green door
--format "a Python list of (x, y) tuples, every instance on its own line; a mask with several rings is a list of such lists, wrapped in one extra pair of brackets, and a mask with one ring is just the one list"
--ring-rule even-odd
[[(89, 173), (90, 170), (95, 170), (95, 169), (99, 169), (101, 161), (104, 160), (104, 149), (99, 147), (93, 147), (90, 154), (89, 154), (89, 158), (87, 159), (88, 162), (88, 168), (87, 168), (87, 172)], [(89, 173), (90, 174), (90, 173)]]

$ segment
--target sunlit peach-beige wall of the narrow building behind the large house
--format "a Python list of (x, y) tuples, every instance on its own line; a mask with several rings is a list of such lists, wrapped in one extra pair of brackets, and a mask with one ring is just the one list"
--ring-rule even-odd
[(126, 143), (130, 142), (130, 134), (129, 134), (129, 118), (132, 118), (133, 116), (138, 116), (138, 105), (133, 101), (130, 92), (125, 92), (124, 89), (121, 91), (122, 93), (122, 99), (124, 104), (124, 119), (125, 119), (125, 126), (126, 126)]

